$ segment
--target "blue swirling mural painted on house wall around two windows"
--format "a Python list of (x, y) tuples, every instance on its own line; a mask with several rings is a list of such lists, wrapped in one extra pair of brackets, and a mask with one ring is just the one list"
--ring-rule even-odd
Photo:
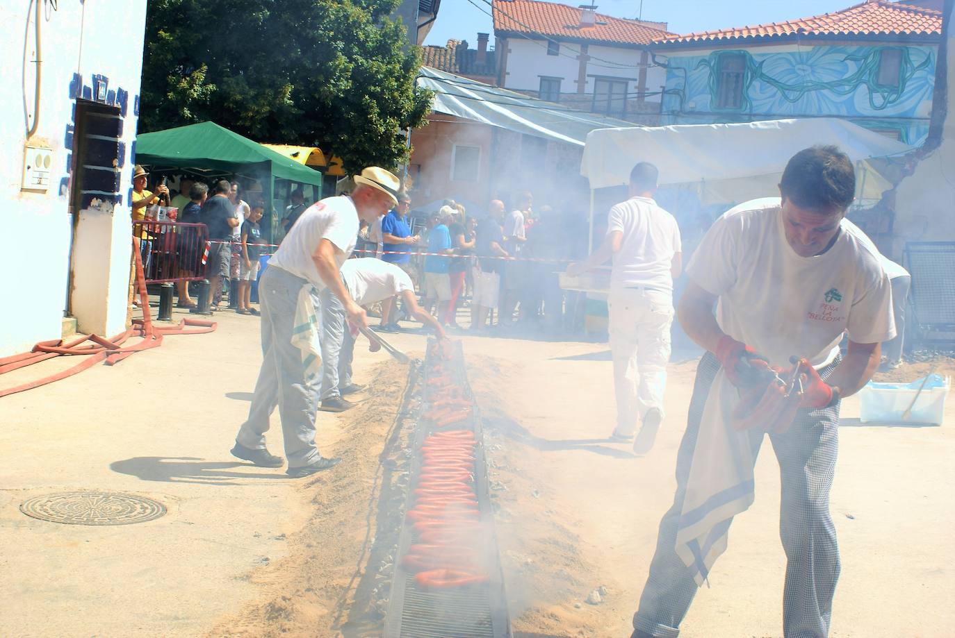
[[(882, 51), (899, 51), (898, 82), (879, 82)], [(742, 56), (742, 99), (718, 108), (719, 62)], [(788, 51), (719, 50), (668, 55), (662, 124), (846, 117), (921, 144), (935, 88), (934, 47), (793, 46)], [(738, 59), (738, 58), (737, 58)]]

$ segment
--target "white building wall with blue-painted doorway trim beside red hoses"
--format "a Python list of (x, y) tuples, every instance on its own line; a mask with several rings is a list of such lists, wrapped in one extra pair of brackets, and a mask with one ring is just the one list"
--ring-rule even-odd
[[(81, 331), (112, 335), (126, 324), (128, 194), (146, 3), (60, 2), (53, 10), (41, 0), (41, 7), (39, 123), (30, 144), (51, 150), (45, 193), (21, 190), (27, 131), (37, 116), (35, 13), (32, 3), (0, 5), (8, 33), (0, 59), (11, 80), (0, 94), (0, 356), (58, 339), (68, 294)], [(120, 113), (117, 191), (123, 195), (118, 202), (87, 197), (81, 210), (71, 211), (74, 107), (77, 98), (99, 97), (96, 87), (103, 87), (99, 101)]]

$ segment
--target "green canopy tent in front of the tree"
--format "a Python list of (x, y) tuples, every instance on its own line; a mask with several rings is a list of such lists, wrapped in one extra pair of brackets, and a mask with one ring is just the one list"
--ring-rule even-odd
[(269, 239), (274, 237), (278, 221), (274, 206), (268, 203), (272, 201), (276, 179), (311, 184), (321, 196), (321, 173), (215, 122), (140, 134), (136, 138), (136, 161), (153, 171), (190, 170), (210, 177), (240, 175), (258, 180), (266, 205), (263, 221), (267, 223), (263, 230)]

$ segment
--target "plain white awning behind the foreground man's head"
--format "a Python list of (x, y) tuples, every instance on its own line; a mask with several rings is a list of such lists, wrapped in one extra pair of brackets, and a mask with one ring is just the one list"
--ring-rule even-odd
[[(648, 161), (660, 170), (661, 185), (705, 183), (708, 191), (727, 196), (722, 201), (742, 201), (775, 195), (773, 187), (789, 158), (816, 144), (837, 145), (871, 174), (876, 172), (865, 160), (912, 150), (835, 117), (605, 129), (587, 135), (581, 175), (593, 189), (623, 186), (633, 165)], [(886, 187), (887, 182), (871, 177), (867, 190)], [(753, 188), (763, 192), (752, 193)]]

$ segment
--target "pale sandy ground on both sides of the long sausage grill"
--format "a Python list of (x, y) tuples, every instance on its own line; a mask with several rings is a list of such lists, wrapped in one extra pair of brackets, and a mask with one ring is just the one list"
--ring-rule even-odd
[[(377, 635), (373, 542), (386, 531), (376, 513), (388, 505), (389, 468), (407, 434), (393, 427), (406, 369), (359, 348), (356, 380), (375, 389), (350, 412), (322, 414), (318, 437), (324, 453), (345, 462), (291, 481), (281, 469), (228, 455), (259, 346), (254, 318), (217, 319), (210, 335), (167, 338), (114, 368), (0, 400), (0, 635)], [(638, 459), (606, 440), (614, 408), (605, 345), (463, 341), (499, 487), (516, 636), (628, 636), (672, 497), (695, 362), (671, 365), (667, 422)], [(393, 342), (410, 352), (424, 345), (414, 334)], [(894, 374), (914, 379), (920, 370)], [(0, 386), (41, 372), (7, 375)], [(943, 427), (862, 425), (856, 416), (858, 401), (845, 401), (832, 635), (949, 636), (955, 400)], [(756, 483), (756, 503), (733, 524), (684, 636), (781, 636), (785, 557), (768, 447)], [(32, 496), (72, 489), (151, 496), (169, 513), (90, 527), (36, 521), (18, 509)], [(601, 586), (605, 602), (585, 604)]]

